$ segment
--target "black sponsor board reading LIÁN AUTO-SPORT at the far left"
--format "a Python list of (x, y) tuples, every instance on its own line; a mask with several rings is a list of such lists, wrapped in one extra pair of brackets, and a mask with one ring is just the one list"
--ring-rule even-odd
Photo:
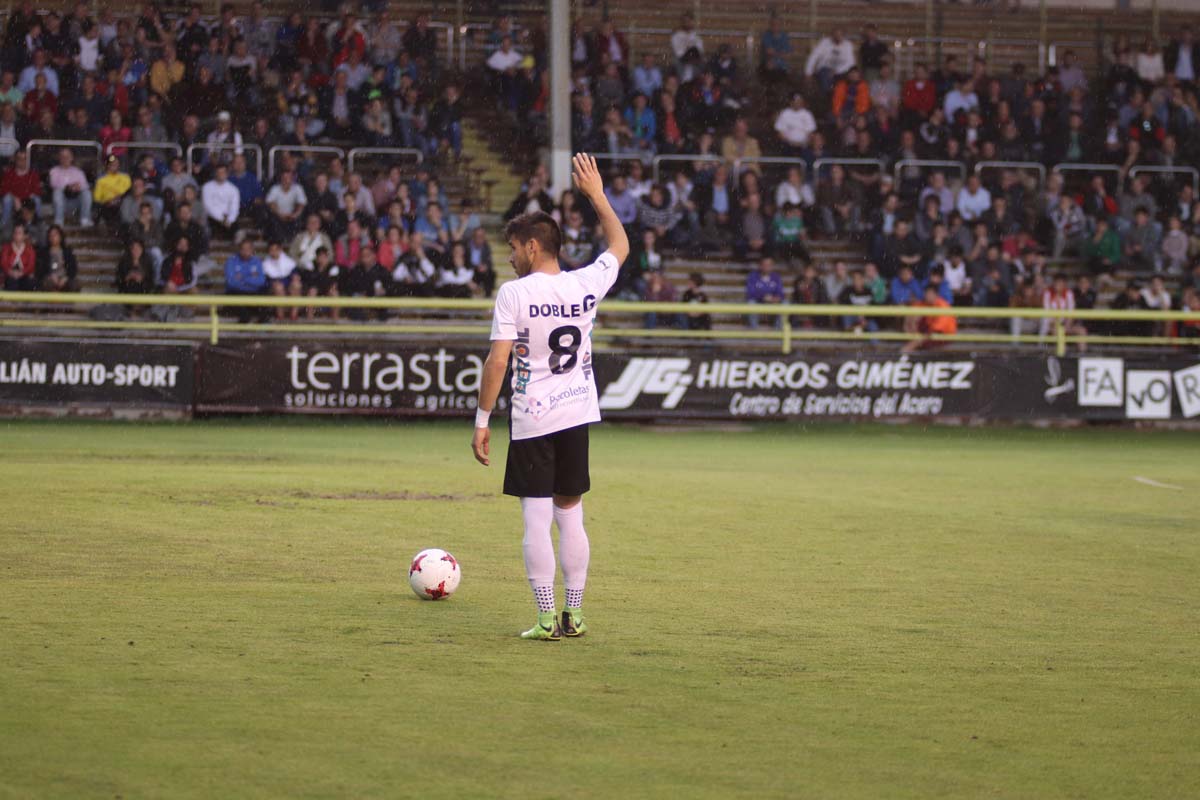
[(0, 339), (0, 405), (190, 410), (194, 345)]

